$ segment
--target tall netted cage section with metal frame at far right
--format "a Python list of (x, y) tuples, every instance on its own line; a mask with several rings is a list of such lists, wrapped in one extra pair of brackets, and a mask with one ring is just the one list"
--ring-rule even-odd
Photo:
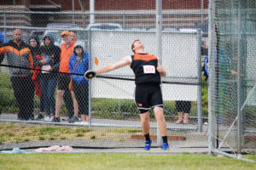
[(210, 145), (218, 153), (253, 153), (255, 1), (212, 1), (211, 5)]

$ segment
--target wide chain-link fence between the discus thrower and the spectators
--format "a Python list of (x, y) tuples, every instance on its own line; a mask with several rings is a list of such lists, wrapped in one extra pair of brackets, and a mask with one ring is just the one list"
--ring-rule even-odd
[[(90, 24), (91, 15), (95, 23)], [(84, 80), (84, 72), (131, 55), (135, 39), (143, 42), (149, 54), (158, 54), (154, 9), (91, 14), (10, 8), (0, 11), (0, 20), (6, 42), (1, 48), (6, 55), (0, 72), (2, 149), (51, 144), (143, 146), (131, 68), (102, 74), (90, 82)], [(207, 37), (207, 13), (201, 9), (163, 10), (162, 23), (159, 60), (167, 72), (161, 88), (169, 143), (207, 147), (207, 125), (203, 125), (207, 122), (207, 87), (201, 92), (205, 84), (201, 83), (201, 42)], [(19, 36), (15, 29), (22, 32), (24, 44), (20, 42), (19, 47), (13, 42)], [(63, 46), (61, 32), (65, 34), (65, 30), (84, 48), (82, 58), (75, 49)], [(64, 53), (71, 57), (64, 58)], [(68, 89), (71, 75), (72, 92)], [(189, 114), (189, 123), (177, 122), (184, 113)], [(60, 120), (55, 119), (58, 115)], [(153, 111), (150, 124), (156, 140)]]

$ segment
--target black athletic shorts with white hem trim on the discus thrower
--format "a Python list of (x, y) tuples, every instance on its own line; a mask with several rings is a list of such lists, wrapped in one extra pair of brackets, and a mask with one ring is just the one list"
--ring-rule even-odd
[(160, 85), (150, 82), (137, 84), (135, 102), (141, 114), (149, 111), (151, 107), (163, 107)]

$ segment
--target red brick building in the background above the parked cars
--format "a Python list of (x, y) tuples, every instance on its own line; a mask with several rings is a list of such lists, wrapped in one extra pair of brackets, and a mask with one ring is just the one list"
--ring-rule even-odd
[[(155, 27), (155, 0), (95, 0), (95, 12), (110, 13), (96, 14), (96, 22), (118, 23), (124, 28)], [(162, 1), (163, 26), (176, 28), (192, 28), (195, 25), (205, 24), (208, 0), (165, 0)], [(3, 11), (33, 11), (33, 12), (89, 12), (90, 0), (10, 0), (0, 5), (0, 24), (3, 25)], [(202, 17), (201, 12), (204, 12)], [(138, 13), (130, 15), (131, 13)], [(143, 13), (142, 17), (139, 17)], [(166, 14), (165, 14), (166, 13)], [(146, 15), (148, 14), (148, 15)], [(172, 15), (170, 15), (172, 14)], [(175, 15), (176, 14), (176, 15)], [(191, 15), (192, 14), (192, 15)], [(191, 19), (191, 16), (193, 19)], [(7, 14), (7, 26), (45, 27), (49, 23), (75, 23), (84, 28), (90, 22), (89, 14)]]

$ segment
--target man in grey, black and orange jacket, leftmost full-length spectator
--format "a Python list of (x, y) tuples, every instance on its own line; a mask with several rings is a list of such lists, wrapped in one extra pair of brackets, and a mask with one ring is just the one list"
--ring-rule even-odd
[(32, 70), (29, 70), (33, 68), (33, 58), (30, 48), (21, 39), (22, 31), (16, 29), (13, 37), (13, 40), (10, 40), (0, 48), (0, 54), (7, 54), (8, 64), (18, 67), (9, 68), (9, 71), (15, 99), (19, 107), (18, 119), (26, 121), (34, 117), (34, 84), (32, 82)]

